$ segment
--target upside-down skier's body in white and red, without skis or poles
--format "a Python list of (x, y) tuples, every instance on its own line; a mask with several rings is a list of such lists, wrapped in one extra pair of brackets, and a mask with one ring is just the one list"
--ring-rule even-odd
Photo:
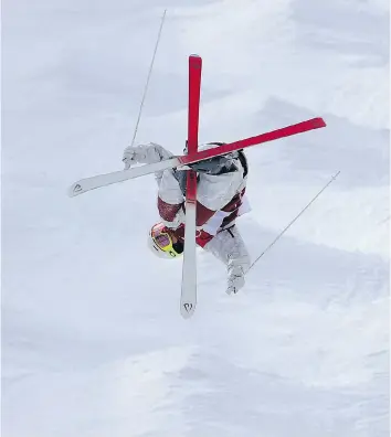
[[(210, 142), (199, 150), (221, 145)], [(129, 169), (135, 163), (155, 163), (172, 157), (169, 150), (151, 142), (127, 147), (123, 161), (125, 169)], [(198, 172), (197, 244), (226, 265), (226, 292), (236, 294), (250, 268), (250, 255), (235, 224), (239, 215), (250, 211), (245, 196), (246, 158), (239, 151), (197, 162), (191, 168)], [(173, 259), (183, 253), (186, 173), (178, 169), (155, 173), (161, 221), (151, 227), (148, 246), (161, 258)]]

